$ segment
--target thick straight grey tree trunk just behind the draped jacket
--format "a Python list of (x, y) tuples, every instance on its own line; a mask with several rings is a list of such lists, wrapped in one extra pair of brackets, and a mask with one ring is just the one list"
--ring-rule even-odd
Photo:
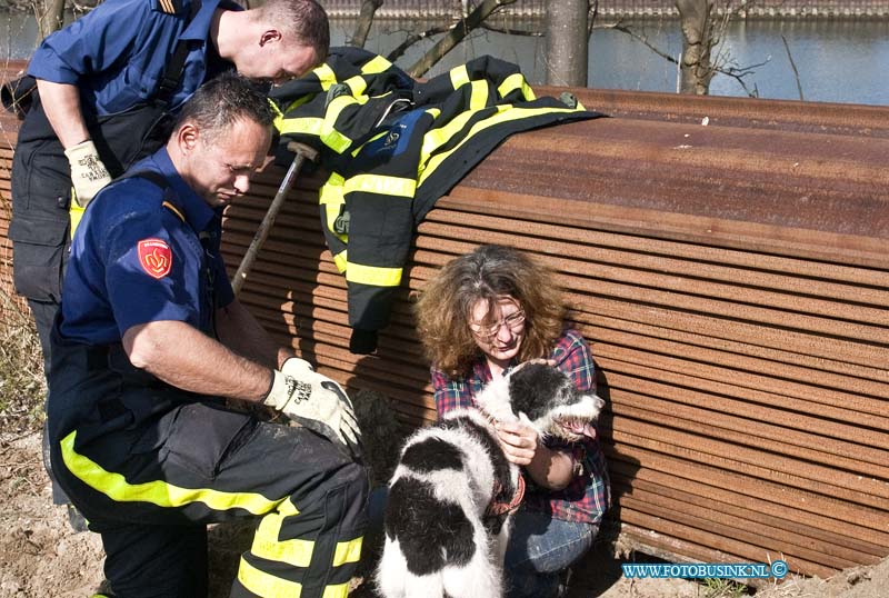
[(587, 0), (547, 2), (547, 83), (587, 87), (589, 29)]

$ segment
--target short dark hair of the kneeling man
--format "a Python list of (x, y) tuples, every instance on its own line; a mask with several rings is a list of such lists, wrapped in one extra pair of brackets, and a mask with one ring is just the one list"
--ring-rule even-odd
[(173, 130), (193, 122), (207, 139), (213, 139), (239, 119), (271, 127), (274, 113), (257, 83), (234, 72), (224, 72), (203, 83), (186, 101)]

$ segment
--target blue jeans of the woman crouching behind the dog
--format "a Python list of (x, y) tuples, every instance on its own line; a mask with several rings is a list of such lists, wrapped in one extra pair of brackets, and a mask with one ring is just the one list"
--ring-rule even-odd
[(598, 532), (597, 525), (519, 509), (507, 546), (507, 598), (556, 596), (560, 574), (587, 554)]

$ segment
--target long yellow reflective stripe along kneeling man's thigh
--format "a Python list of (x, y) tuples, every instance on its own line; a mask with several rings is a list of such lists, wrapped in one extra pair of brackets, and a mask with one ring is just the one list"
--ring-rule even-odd
[(77, 431), (61, 441), (62, 460), (68, 470), (93, 490), (117, 502), (151, 502), (159, 507), (183, 507), (203, 502), (213, 510), (244, 509), (253, 515), (273, 511), (281, 500), (269, 500), (254, 492), (223, 492), (212, 488), (182, 488), (162, 480), (129, 484), (120, 474), (107, 471), (99, 464), (74, 451)]

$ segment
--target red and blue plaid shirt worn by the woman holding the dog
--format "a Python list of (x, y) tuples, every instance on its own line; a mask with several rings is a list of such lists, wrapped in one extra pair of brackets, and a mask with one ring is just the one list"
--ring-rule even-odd
[[(587, 341), (576, 330), (566, 330), (549, 359), (575, 381), (581, 390), (596, 390), (596, 371)], [(513, 367), (518, 363), (511, 363)], [(450, 379), (444, 372), (432, 367), (432, 388), (436, 392), (436, 408), (439, 417), (457, 407), (476, 407), (475, 397), (491, 381), (491, 370), (481, 357), (472, 365), (468, 378)], [(547, 447), (570, 451), (575, 459), (583, 464), (583, 471), (562, 490), (552, 491), (533, 484), (526, 475), (528, 491), (525, 508), (548, 512), (556, 519), (598, 524), (611, 504), (605, 456), (598, 439), (585, 438), (579, 442), (563, 442), (548, 439)]]

